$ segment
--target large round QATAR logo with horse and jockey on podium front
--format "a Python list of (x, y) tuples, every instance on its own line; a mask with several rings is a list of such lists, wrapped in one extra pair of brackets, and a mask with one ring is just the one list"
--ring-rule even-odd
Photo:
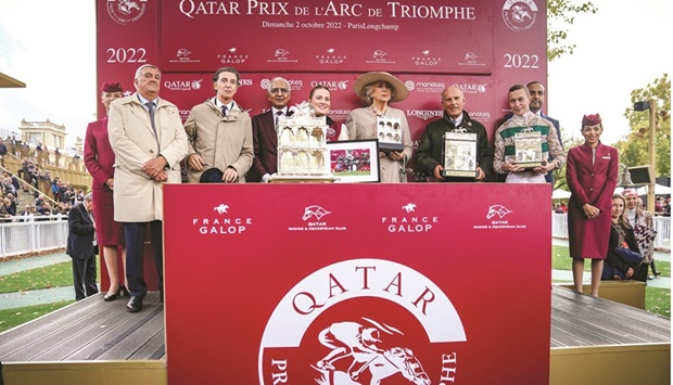
[(432, 385), (454, 382), (467, 342), (447, 295), (408, 266), (376, 258), (323, 267), (269, 317), (261, 384)]

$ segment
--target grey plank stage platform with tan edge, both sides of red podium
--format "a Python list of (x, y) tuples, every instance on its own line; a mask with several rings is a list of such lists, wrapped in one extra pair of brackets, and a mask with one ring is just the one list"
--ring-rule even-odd
[[(5, 384), (166, 384), (158, 294), (139, 313), (125, 305), (99, 294), (0, 334)], [(671, 383), (670, 319), (558, 285), (550, 347), (550, 384)]]

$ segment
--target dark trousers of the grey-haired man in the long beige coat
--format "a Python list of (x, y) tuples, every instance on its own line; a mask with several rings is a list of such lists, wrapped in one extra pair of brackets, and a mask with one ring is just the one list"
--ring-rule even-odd
[(124, 223), (124, 239), (126, 242), (126, 279), (130, 295), (144, 298), (148, 285), (144, 281), (143, 256), (144, 238), (150, 224), (152, 232), (152, 248), (154, 249), (154, 264), (158, 274), (158, 290), (164, 291), (164, 246), (162, 235), (162, 221), (127, 222)]

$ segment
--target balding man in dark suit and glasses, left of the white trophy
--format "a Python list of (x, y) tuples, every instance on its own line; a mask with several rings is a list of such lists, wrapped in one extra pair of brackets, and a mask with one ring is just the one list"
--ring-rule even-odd
[(292, 116), (288, 103), (292, 97), (290, 82), (281, 77), (271, 79), (267, 98), (271, 103), (269, 111), (252, 117), (253, 149), (255, 157), (252, 169), (245, 180), (267, 183), (271, 175), (278, 171), (278, 118)]

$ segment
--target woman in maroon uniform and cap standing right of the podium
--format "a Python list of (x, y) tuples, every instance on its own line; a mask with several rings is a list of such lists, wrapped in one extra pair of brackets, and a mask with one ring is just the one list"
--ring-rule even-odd
[(600, 115), (582, 118), (584, 144), (568, 151), (566, 180), (570, 188), (568, 202), (568, 238), (575, 291), (582, 293), (584, 259), (592, 260), (592, 295), (598, 296), (602, 266), (608, 254), (612, 194), (617, 187), (619, 154), (617, 149), (600, 143)]

